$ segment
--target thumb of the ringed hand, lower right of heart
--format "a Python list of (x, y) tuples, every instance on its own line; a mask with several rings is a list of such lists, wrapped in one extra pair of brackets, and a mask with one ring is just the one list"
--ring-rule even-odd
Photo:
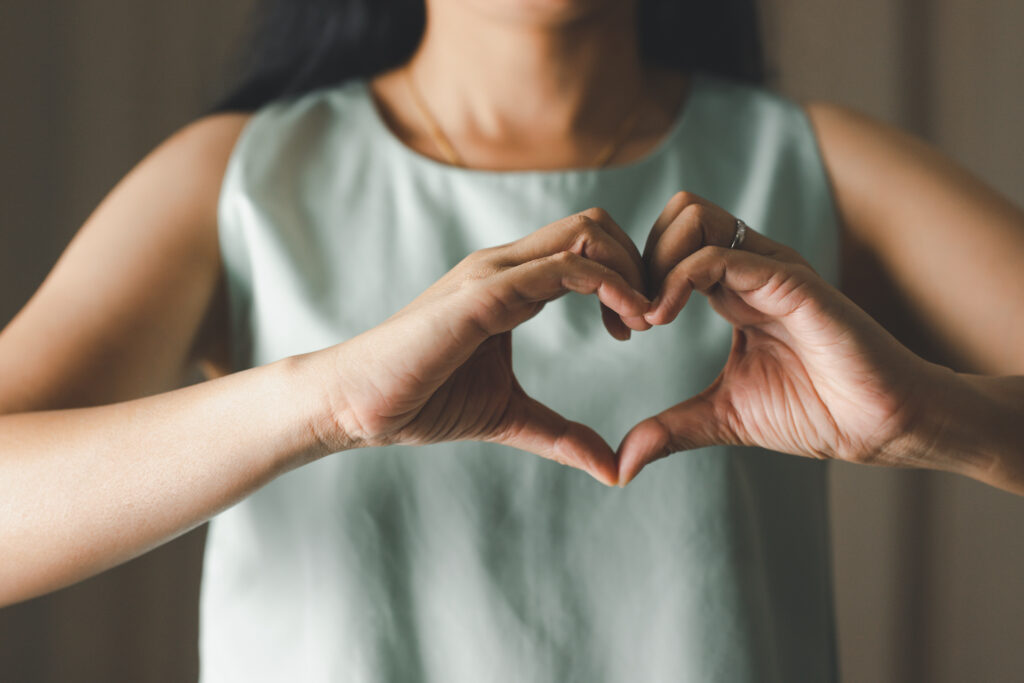
[(647, 418), (618, 444), (618, 485), (625, 486), (648, 463), (673, 453), (731, 443), (728, 431), (708, 393)]

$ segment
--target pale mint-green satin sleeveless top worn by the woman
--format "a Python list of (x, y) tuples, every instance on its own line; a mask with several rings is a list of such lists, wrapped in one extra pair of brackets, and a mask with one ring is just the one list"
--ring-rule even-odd
[[(365, 79), (274, 100), (247, 122), (220, 195), (234, 368), (344, 341), (470, 252), (588, 207), (642, 247), (680, 189), (836, 284), (812, 129), (759, 87), (696, 74), (639, 161), (535, 171), (415, 152)], [(569, 294), (512, 333), (513, 366), (527, 393), (614, 447), (710, 384), (730, 341), (700, 295), (673, 325), (620, 342), (594, 297)], [(616, 488), (475, 441), (335, 454), (211, 521), (201, 680), (834, 681), (825, 473), (707, 447)]]

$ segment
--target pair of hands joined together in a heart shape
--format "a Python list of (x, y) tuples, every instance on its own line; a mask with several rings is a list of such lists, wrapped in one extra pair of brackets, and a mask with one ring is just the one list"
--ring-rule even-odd
[[(720, 207), (680, 193), (643, 254), (600, 209), (471, 254), (337, 347), (337, 429), (328, 440), (492, 441), (620, 485), (654, 460), (714, 444), (921, 465), (904, 441), (943, 369), (903, 347), (793, 249), (753, 229), (730, 249), (735, 225)], [(617, 452), (516, 381), (512, 331), (548, 301), (596, 295), (605, 328), (627, 340), (671, 325), (694, 291), (733, 326), (729, 359), (698, 395), (637, 424)]]

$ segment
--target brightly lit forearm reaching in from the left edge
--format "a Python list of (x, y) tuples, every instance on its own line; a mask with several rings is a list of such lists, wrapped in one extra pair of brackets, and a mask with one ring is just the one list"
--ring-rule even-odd
[(0, 417), (0, 604), (131, 559), (326, 455), (325, 361)]

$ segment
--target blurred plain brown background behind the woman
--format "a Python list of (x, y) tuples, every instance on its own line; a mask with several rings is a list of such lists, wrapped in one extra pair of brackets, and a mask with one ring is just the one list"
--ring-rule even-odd
[[(118, 180), (220, 92), (250, 5), (4, 0), (0, 326)], [(762, 12), (775, 87), (900, 125), (1024, 206), (1024, 4), (766, 0)], [(953, 357), (915, 336), (881, 274), (877, 291), (869, 312), (894, 334)], [(939, 473), (831, 471), (844, 680), (1022, 680), (1024, 498)], [(204, 533), (0, 609), (0, 681), (195, 680)]]

